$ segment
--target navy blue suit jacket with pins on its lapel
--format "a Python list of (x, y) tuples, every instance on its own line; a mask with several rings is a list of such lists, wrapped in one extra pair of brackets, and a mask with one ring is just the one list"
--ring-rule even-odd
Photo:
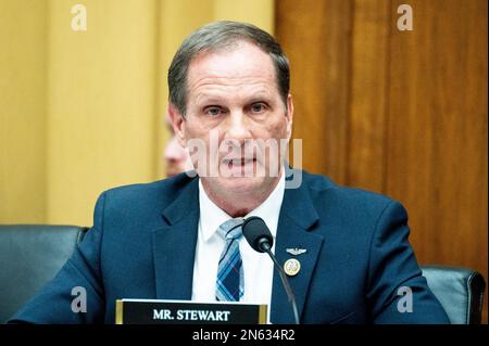
[[(285, 192), (275, 248), (281, 264), (286, 248), (306, 248), (289, 278), (301, 323), (449, 323), (409, 244), (404, 208), (302, 174), (301, 187)], [(114, 323), (118, 298), (190, 299), (198, 193), (186, 175), (102, 193), (71, 259), (11, 321)], [(87, 291), (86, 312), (71, 309), (74, 286)], [(398, 310), (402, 286), (413, 293), (412, 312)], [(276, 271), (271, 321), (293, 322)]]

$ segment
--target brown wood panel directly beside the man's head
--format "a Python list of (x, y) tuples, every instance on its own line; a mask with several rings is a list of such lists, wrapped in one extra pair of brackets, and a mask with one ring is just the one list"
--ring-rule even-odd
[(344, 182), (351, 2), (277, 1), (275, 11), (292, 71), (293, 138), (303, 140), (303, 165)]

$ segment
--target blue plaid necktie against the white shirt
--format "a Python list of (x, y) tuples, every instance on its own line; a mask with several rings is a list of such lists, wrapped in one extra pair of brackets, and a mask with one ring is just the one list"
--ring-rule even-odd
[(244, 293), (241, 254), (238, 239), (242, 235), (242, 218), (230, 219), (217, 231), (226, 240), (217, 268), (215, 298), (220, 302), (239, 302)]

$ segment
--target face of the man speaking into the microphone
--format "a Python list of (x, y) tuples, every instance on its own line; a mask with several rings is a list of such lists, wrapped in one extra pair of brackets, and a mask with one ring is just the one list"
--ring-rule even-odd
[[(275, 187), (279, 179), (275, 167), (278, 163), (280, 169), (283, 159), (280, 139), (290, 139), (291, 125), (291, 97), (285, 105), (272, 59), (256, 46), (240, 42), (233, 49), (202, 53), (190, 63), (187, 114), (177, 121), (176, 133), (183, 145), (191, 139), (205, 142), (206, 165), (214, 164), (218, 177), (209, 177), (209, 166), (203, 167), (197, 155), (192, 163), (204, 187), (222, 197), (229, 192), (263, 194)], [(278, 150), (248, 145), (256, 140), (275, 141)], [(283, 144), (281, 150), (287, 146)]]

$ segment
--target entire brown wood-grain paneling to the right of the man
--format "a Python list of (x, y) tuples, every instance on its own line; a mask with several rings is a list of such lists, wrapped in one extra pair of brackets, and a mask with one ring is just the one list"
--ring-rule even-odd
[(304, 167), (401, 201), (421, 264), (487, 280), (487, 1), (280, 0), (276, 23)]

